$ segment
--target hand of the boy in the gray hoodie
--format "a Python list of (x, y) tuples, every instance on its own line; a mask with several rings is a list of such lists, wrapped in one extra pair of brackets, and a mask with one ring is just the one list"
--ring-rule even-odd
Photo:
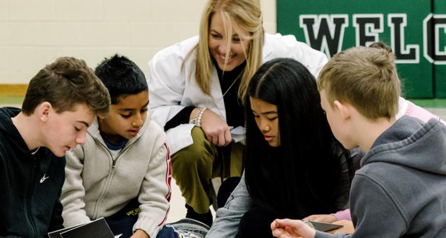
[(271, 223), (274, 237), (278, 238), (314, 238), (316, 231), (301, 220), (275, 219)]

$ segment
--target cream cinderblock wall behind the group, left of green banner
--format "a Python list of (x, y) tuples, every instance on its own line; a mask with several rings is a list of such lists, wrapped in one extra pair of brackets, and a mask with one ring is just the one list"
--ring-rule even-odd
[[(114, 53), (147, 72), (153, 55), (198, 34), (206, 0), (0, 0), (0, 85), (27, 84), (60, 56), (95, 67)], [(276, 1), (261, 0), (276, 32)]]

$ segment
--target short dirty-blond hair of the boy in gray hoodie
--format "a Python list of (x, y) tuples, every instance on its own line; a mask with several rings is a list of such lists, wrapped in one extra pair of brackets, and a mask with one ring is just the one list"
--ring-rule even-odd
[(395, 116), (401, 94), (395, 55), (379, 48), (354, 47), (342, 51), (324, 66), (317, 80), (331, 106), (352, 104), (371, 120)]

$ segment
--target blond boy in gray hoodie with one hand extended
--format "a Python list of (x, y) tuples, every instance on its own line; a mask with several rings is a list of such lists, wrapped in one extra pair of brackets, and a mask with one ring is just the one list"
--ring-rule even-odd
[(366, 155), (350, 192), (353, 234), (315, 231), (276, 219), (276, 237), (446, 237), (446, 127), (438, 120), (398, 121), (395, 56), (356, 47), (335, 55), (318, 78), (335, 137)]

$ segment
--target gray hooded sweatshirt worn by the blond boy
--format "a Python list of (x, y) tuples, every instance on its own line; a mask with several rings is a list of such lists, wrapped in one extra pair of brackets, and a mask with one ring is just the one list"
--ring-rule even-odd
[(403, 116), (361, 160), (350, 192), (353, 235), (446, 237), (446, 127)]

